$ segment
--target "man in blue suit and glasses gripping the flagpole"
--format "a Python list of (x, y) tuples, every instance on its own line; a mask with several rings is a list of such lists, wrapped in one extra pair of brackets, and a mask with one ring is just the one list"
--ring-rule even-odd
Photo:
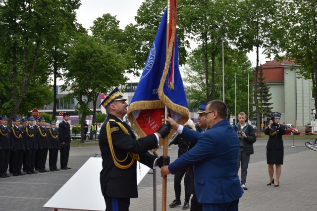
[(188, 132), (171, 118), (166, 119), (172, 129), (189, 135), (197, 144), (169, 166), (162, 167), (161, 176), (193, 166), (196, 195), (203, 211), (238, 211), (243, 194), (238, 176), (239, 138), (227, 120), (228, 109), (221, 100), (207, 104), (205, 117), (210, 129), (201, 135)]

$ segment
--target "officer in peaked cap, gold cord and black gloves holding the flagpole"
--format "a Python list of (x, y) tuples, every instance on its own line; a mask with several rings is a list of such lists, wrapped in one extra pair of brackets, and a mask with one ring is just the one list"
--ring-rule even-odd
[[(124, 121), (128, 104), (116, 87), (101, 103), (108, 114), (101, 127), (99, 146), (103, 158), (103, 170), (100, 172), (102, 193), (106, 202), (106, 211), (115, 208), (129, 210), (130, 198), (138, 197), (137, 160), (154, 169), (169, 163), (169, 158), (157, 158), (148, 150), (159, 145), (159, 138), (165, 137), (170, 125), (159, 127), (152, 135), (136, 140), (136, 136)], [(125, 159), (126, 158), (126, 159)]]

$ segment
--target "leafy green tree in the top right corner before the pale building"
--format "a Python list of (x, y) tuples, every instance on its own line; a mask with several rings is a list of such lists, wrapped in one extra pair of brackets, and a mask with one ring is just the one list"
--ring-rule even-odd
[[(280, 59), (295, 60), (298, 73), (304, 79), (313, 82), (313, 93), (317, 96), (317, 4), (314, 0), (287, 1), (284, 19), (279, 27), (284, 37), (278, 40), (279, 46), (286, 52)], [(317, 108), (317, 97), (315, 97)]]

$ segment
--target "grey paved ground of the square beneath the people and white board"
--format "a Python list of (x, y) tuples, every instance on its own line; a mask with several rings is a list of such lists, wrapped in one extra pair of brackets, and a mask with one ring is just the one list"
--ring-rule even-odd
[[(307, 139), (284, 140), (284, 165), (280, 186), (266, 186), (268, 173), (265, 158), (266, 140), (255, 143), (255, 154), (251, 156), (247, 187), (240, 199), (240, 211), (316, 211), (317, 210), (317, 152), (309, 150)], [(95, 154), (98, 146), (71, 147), (69, 170), (38, 173), (10, 178), (0, 178), (0, 211), (49, 211), (43, 205), (60, 187)], [(159, 155), (162, 150), (159, 150)], [(177, 158), (177, 146), (168, 150), (171, 161)], [(59, 160), (58, 162), (59, 163)], [(157, 210), (161, 210), (161, 183), (157, 170)], [(182, 193), (182, 197), (183, 197)], [(68, 197), (65, 196), (64, 200)], [(169, 208), (174, 200), (173, 176), (167, 176), (167, 211), (180, 211), (182, 207)], [(182, 198), (183, 202), (183, 198)], [(153, 210), (153, 175), (148, 174), (139, 184), (139, 198), (132, 199), (130, 211)]]

